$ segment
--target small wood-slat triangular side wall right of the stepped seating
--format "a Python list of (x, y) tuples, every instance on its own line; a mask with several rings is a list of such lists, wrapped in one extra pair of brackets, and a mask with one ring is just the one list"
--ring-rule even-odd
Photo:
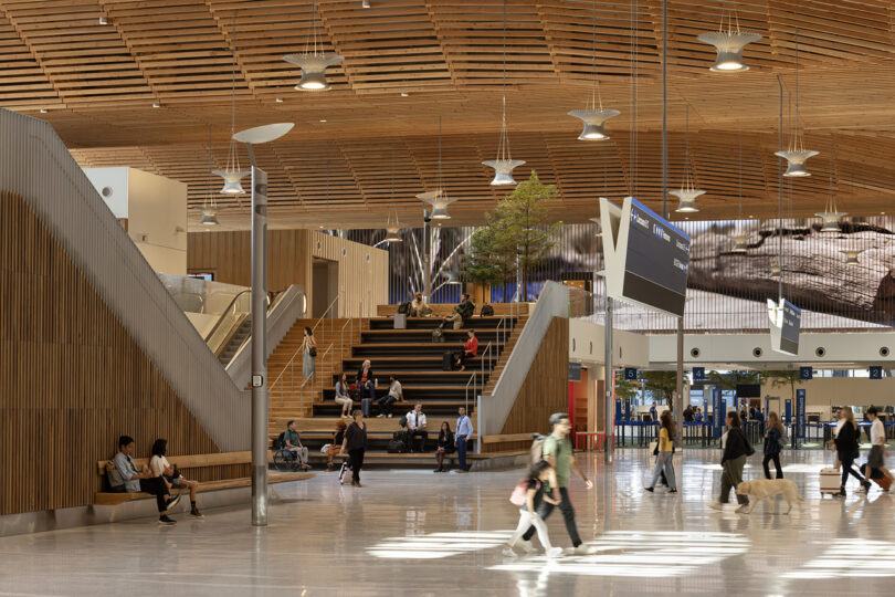
[[(550, 415), (568, 409), (569, 321), (554, 317), (501, 433), (548, 433)], [(525, 449), (530, 443), (502, 444), (501, 449)]]

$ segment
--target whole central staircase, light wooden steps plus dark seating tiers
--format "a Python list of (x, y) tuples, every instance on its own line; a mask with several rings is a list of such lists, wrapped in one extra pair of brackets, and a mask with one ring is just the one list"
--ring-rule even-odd
[[(457, 409), (465, 407), (473, 426), (476, 423), (475, 400), (493, 386), (499, 376), (525, 324), (525, 316), (474, 316), (467, 324), (478, 338), (478, 356), (467, 359), (466, 370), (442, 370), (442, 355), (459, 353), (467, 338), (467, 328), (444, 329), (444, 342), (432, 342), (432, 329), (441, 324), (440, 317), (408, 317), (406, 329), (394, 329), (392, 317), (364, 320), (322, 320), (317, 323), (316, 378), (302, 379), (301, 344), (303, 328), (314, 326), (307, 320), (296, 322), (268, 360), (271, 385), (271, 415), (268, 432), (275, 438), (291, 419), (296, 421), (302, 441), (308, 447), (312, 462), (325, 461), (319, 449), (331, 442), (341, 406), (334, 401), (335, 384), (341, 371), (352, 383), (365, 359), (370, 359), (376, 397), (388, 394), (389, 376), (397, 376), (404, 399), (392, 405), (393, 418), (366, 418), (368, 426), (368, 458), (371, 464), (429, 467), (433, 461), (439, 429), (448, 421), (455, 430)], [(487, 399), (487, 398), (483, 398)], [(386, 451), (392, 433), (400, 429), (399, 420), (423, 404), (429, 439), (428, 454), (389, 454)], [(359, 401), (354, 408), (360, 408)], [(473, 438), (474, 439), (474, 438)], [(477, 457), (471, 455), (474, 460)]]

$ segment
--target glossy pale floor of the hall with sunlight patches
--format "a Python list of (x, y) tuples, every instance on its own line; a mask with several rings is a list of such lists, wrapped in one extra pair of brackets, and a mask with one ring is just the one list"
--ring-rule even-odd
[[(245, 506), (204, 521), (178, 513), (175, 527), (145, 520), (0, 538), (0, 595), (895, 595), (895, 496), (874, 488), (821, 499), (820, 451), (785, 455), (807, 499), (790, 515), (707, 509), (716, 451), (687, 454), (677, 495), (643, 492), (642, 450), (608, 467), (602, 454), (579, 458), (597, 481), (590, 491), (572, 482), (594, 555), (502, 555), (519, 471), (370, 471), (361, 489), (320, 473), (281, 488), (266, 528), (250, 525)], [(746, 478), (760, 476), (760, 457), (750, 460)], [(548, 526), (554, 544), (570, 546), (558, 512)]]

